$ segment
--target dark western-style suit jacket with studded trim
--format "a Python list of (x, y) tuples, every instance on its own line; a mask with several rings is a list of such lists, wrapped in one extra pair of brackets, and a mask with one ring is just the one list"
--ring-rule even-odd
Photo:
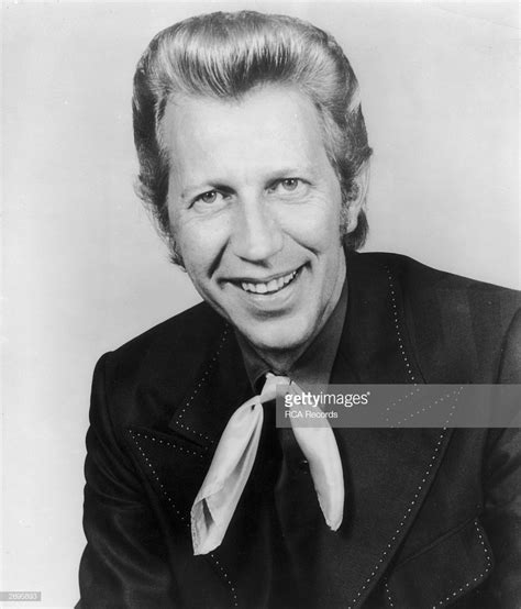
[[(520, 383), (517, 292), (390, 254), (351, 254), (347, 280), (332, 383)], [(312, 546), (306, 507), (288, 503), (278, 539), (273, 497), (255, 495), (255, 481), (223, 544), (195, 557), (192, 501), (228, 419), (251, 396), (234, 332), (206, 303), (100, 359), (84, 609), (286, 609), (299, 587), (297, 606), (310, 608), (521, 607), (517, 429), (337, 429), (344, 523), (312, 549), (308, 574), (280, 575), (285, 532), (303, 552)], [(300, 465), (288, 466), (297, 486), (309, 478)]]

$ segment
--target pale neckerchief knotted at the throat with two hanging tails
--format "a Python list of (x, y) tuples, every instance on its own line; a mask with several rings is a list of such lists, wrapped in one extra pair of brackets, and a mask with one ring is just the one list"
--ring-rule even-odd
[[(250, 478), (263, 429), (263, 403), (274, 400), (278, 385), (288, 392), (301, 389), (285, 376), (266, 375), (259, 396), (232, 414), (219, 441), (210, 469), (191, 508), (193, 554), (208, 554), (221, 545)], [(293, 406), (293, 410), (304, 409)], [(310, 474), (328, 527), (336, 531), (344, 513), (344, 476), (339, 446), (328, 419), (321, 427), (298, 427), (290, 419), (295, 438), (309, 462)]]

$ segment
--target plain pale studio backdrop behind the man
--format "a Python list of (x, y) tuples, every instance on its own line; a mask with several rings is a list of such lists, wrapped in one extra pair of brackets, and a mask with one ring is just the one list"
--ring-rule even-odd
[(78, 595), (96, 359), (198, 300), (133, 193), (135, 63), (159, 29), (246, 7), (309, 19), (353, 63), (366, 250), (519, 287), (517, 4), (4, 2), (0, 589), (41, 607)]

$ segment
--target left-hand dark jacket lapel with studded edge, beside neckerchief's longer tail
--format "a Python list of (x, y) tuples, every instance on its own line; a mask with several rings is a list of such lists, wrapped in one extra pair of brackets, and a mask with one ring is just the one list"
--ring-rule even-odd
[[(130, 445), (185, 531), (182, 544), (187, 547), (190, 544), (190, 553), (193, 500), (224, 427), (252, 394), (234, 332), (221, 318), (215, 315), (215, 321), (219, 325), (209, 337), (210, 345), (204, 345), (202, 359), (197, 359), (198, 350), (187, 355), (192, 358), (188, 368), (195, 370), (187, 392), (181, 392), (182, 383), (178, 378), (171, 380), (173, 363), (159, 362), (163, 366), (159, 377), (167, 381), (153, 380), (162, 390), (149, 408), (164, 409), (169, 412), (168, 419), (163, 424), (156, 421), (153, 427), (133, 425), (128, 430)], [(152, 394), (152, 389), (143, 392)]]

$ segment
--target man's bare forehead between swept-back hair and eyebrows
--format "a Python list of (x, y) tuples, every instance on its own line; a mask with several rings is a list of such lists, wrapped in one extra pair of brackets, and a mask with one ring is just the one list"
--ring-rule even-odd
[(210, 168), (215, 177), (233, 168), (247, 178), (281, 166), (329, 165), (319, 112), (289, 87), (266, 86), (240, 100), (177, 99), (166, 108), (162, 136), (181, 178), (198, 179)]

